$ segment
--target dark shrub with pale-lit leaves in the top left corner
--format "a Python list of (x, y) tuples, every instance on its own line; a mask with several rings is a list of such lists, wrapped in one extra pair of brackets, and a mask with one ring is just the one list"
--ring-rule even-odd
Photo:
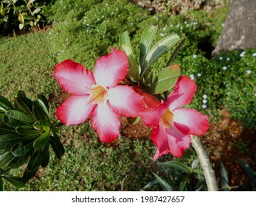
[(46, 1), (3, 0), (0, 4), (0, 35), (7, 35), (17, 27), (19, 29), (39, 29), (46, 22), (41, 10), (46, 7)]

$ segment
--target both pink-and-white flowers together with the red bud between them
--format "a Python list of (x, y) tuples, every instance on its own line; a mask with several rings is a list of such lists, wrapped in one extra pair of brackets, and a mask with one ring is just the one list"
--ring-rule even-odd
[(157, 146), (154, 160), (168, 153), (181, 157), (190, 145), (190, 135), (202, 135), (209, 127), (206, 116), (181, 108), (193, 99), (195, 82), (179, 77), (167, 101), (159, 102), (141, 88), (124, 84), (128, 68), (128, 57), (119, 49), (100, 57), (93, 73), (72, 60), (56, 65), (52, 76), (72, 94), (58, 107), (58, 119), (68, 126), (91, 116), (100, 141), (112, 142), (120, 136), (119, 116), (140, 116), (153, 128), (151, 140)]

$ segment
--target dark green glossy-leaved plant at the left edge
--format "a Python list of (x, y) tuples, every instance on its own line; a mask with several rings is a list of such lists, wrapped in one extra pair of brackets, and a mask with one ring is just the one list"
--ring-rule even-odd
[[(48, 102), (39, 95), (38, 99), (28, 99), (19, 91), (14, 106), (4, 96), (0, 96), (0, 168), (5, 170), (1, 177), (11, 184), (21, 187), (30, 180), (40, 166), (49, 163), (49, 145), (53, 145), (57, 157), (64, 153), (58, 137), (56, 122), (49, 118)], [(58, 125), (57, 125), (58, 126)], [(7, 171), (27, 164), (22, 177), (6, 176)]]

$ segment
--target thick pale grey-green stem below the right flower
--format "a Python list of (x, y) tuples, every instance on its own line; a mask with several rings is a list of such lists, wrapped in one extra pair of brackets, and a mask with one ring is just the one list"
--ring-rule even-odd
[(198, 136), (191, 135), (193, 148), (196, 150), (201, 167), (204, 171), (204, 177), (207, 182), (208, 191), (218, 191), (218, 185), (215, 177), (215, 171), (212, 169), (207, 151), (204, 149)]

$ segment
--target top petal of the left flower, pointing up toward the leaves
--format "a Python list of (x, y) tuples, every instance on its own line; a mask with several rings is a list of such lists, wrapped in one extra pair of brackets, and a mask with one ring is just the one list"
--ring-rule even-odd
[(113, 88), (125, 78), (129, 67), (124, 51), (112, 49), (111, 53), (100, 57), (94, 69), (94, 78), (98, 85)]

